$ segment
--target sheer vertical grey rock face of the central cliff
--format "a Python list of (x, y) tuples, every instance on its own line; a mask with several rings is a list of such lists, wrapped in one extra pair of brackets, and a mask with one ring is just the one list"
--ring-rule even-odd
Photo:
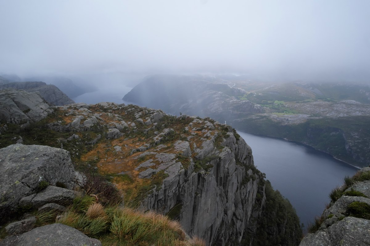
[[(198, 123), (199, 120), (195, 119), (193, 124)], [(203, 150), (206, 151), (202, 152), (199, 159), (216, 156), (208, 162), (209, 170), (194, 172), (193, 160), (188, 167), (184, 167), (176, 160), (175, 154), (148, 152), (151, 155), (156, 154), (154, 158), (161, 164), (154, 167), (150, 164), (151, 161), (142, 163), (142, 167), (150, 167), (142, 171), (140, 177), (150, 177), (161, 170), (168, 177), (159, 190), (152, 190), (142, 202), (141, 208), (168, 213), (181, 204), (178, 219), (189, 235), (206, 239), (207, 245), (230, 245), (232, 242), (240, 242), (248, 227), (248, 221), (253, 216), (258, 182), (262, 177), (256, 175), (253, 181), (243, 183), (247, 173), (252, 175), (249, 170), (253, 166), (250, 147), (243, 139), (237, 141), (233, 133), (229, 132), (222, 143), (225, 147), (219, 150), (213, 144), (216, 136), (209, 135), (209, 139), (202, 141)], [(176, 142), (176, 153), (191, 156), (189, 143), (186, 143)], [(242, 164), (236, 164), (237, 160)], [(255, 216), (258, 217), (260, 212), (257, 211)]]

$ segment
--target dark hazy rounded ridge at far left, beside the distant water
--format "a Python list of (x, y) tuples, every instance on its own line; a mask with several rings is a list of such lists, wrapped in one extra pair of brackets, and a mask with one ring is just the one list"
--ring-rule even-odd
[(44, 82), (12, 82), (0, 85), (0, 89), (5, 88), (22, 89), (28, 92), (38, 91), (41, 97), (52, 105), (61, 106), (74, 103), (74, 101), (59, 90), (58, 87)]

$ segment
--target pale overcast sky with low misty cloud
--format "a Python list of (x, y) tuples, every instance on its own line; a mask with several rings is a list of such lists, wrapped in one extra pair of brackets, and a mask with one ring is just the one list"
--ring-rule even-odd
[(369, 0), (0, 0), (0, 73), (370, 79)]

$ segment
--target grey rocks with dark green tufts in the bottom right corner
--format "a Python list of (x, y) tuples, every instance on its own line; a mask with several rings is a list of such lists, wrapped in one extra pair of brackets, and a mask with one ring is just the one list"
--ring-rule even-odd
[(332, 202), (303, 238), (300, 246), (370, 244), (370, 168), (361, 169), (332, 191)]

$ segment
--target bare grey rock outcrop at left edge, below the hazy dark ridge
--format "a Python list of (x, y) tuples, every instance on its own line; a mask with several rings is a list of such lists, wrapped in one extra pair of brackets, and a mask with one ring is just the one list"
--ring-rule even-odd
[(37, 93), (23, 90), (0, 90), (0, 121), (19, 124), (23, 127), (36, 122), (53, 112)]

